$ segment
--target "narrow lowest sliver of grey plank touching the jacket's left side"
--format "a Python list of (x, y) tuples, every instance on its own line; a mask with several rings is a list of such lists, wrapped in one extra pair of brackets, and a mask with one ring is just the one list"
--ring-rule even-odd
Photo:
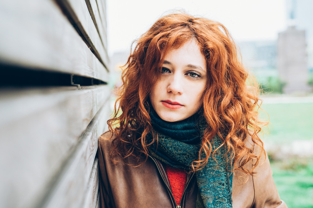
[(82, 208), (94, 208), (97, 205), (97, 197), (99, 191), (99, 172), (98, 172), (98, 158), (95, 158), (95, 162), (92, 166), (90, 179), (87, 187), (87, 191), (84, 194)]

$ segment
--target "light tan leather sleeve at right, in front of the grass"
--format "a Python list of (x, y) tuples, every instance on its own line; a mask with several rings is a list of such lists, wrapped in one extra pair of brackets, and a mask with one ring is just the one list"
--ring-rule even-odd
[[(260, 148), (255, 145), (254, 151), (258, 153)], [(258, 208), (285, 208), (287, 205), (280, 200), (276, 189), (273, 172), (269, 165), (269, 158), (261, 157), (259, 165), (255, 168), (256, 175), (252, 177), (254, 187), (254, 201), (252, 207)]]

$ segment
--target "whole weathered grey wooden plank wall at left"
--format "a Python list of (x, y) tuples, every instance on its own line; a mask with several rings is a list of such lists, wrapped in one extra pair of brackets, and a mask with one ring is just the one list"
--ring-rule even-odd
[(0, 207), (98, 207), (105, 0), (0, 2)]

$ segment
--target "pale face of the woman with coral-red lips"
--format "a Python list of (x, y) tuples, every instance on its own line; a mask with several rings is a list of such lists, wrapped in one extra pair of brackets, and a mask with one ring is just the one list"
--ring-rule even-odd
[(195, 114), (203, 104), (207, 85), (206, 60), (195, 41), (165, 56), (159, 81), (153, 86), (150, 101), (161, 119), (181, 121)]

